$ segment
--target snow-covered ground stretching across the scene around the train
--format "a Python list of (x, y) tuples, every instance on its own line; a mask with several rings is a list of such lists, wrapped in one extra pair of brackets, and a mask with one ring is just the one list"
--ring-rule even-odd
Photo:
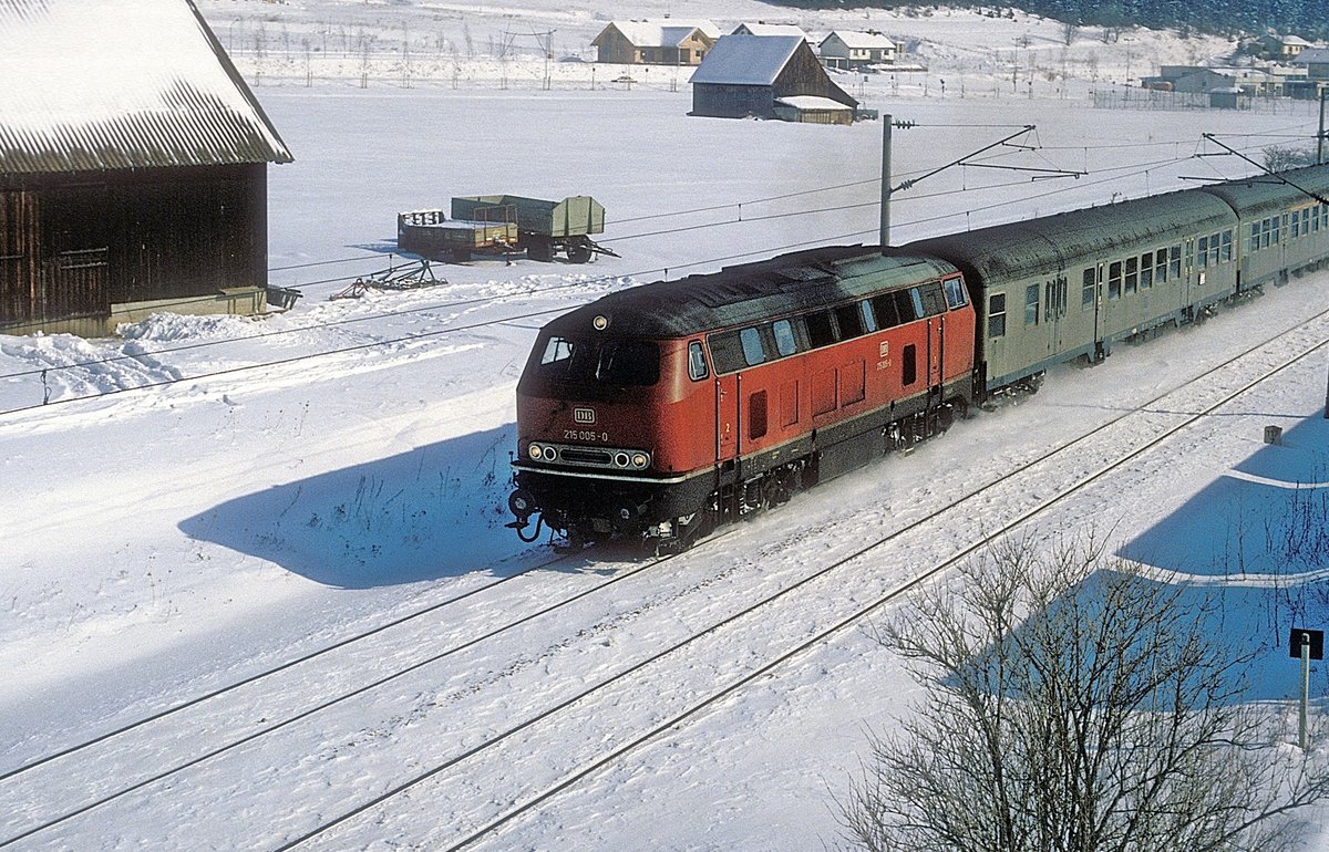
[[(201, 8), (246, 77), (260, 82), (263, 107), (296, 157), (270, 170), (270, 265), (275, 284), (304, 297), (260, 321), (163, 315), (112, 340), (0, 337), (0, 843), (142, 784), (35, 831), (20, 848), (280, 847), (756, 596), (792, 587), (856, 541), (922, 519), (1188, 380), (1227, 376), (1219, 365), (1228, 358), (1326, 305), (1329, 276), (1298, 279), (1204, 325), (1123, 348), (1092, 370), (1057, 370), (1023, 403), (801, 495), (658, 571), (630, 575), (635, 565), (621, 556), (591, 553), (518, 577), (552, 556), (502, 527), (513, 386), (534, 329), (614, 288), (796, 247), (874, 242), (880, 122), (690, 118), (686, 74), (672, 69), (653, 69), (649, 80), (643, 70), (629, 86), (611, 82), (617, 70), (599, 68), (593, 78), (590, 64), (553, 62), (546, 89), (541, 57), (514, 48), (500, 61), (489, 49), (505, 33), (521, 46), (553, 29), (556, 56), (586, 52), (607, 15), (578, 4), (207, 0)], [(1058, 25), (1029, 19), (813, 15), (743, 0), (720, 4), (723, 13), (702, 3), (667, 8), (674, 17), (708, 15), (726, 29), (788, 20), (917, 40), (925, 74), (843, 81), (867, 106), (918, 123), (894, 131), (897, 183), (1023, 125), (1035, 126), (1015, 141), (1023, 145), (990, 151), (985, 163), (1079, 175), (948, 170), (896, 195), (894, 242), (1251, 171), (1235, 157), (1195, 157), (1219, 153), (1203, 133), (1259, 158), (1263, 147), (1316, 130), (1305, 106), (1091, 109), (1091, 89), (1225, 49), (1213, 40), (1127, 33), (1104, 45), (1086, 32), (1062, 57)], [(627, 13), (664, 11), (643, 1)], [(259, 27), (262, 45), (246, 36)], [(295, 46), (278, 46), (283, 33)], [(319, 42), (328, 58), (316, 64), (315, 37), (334, 44), (339, 33), (350, 58), (328, 57), (335, 50)], [(355, 49), (358, 33), (373, 35), (373, 64), (363, 41)], [(427, 38), (443, 57), (437, 74), (420, 70)], [(401, 44), (413, 45), (409, 76), (388, 65)], [(1049, 58), (1031, 64), (1026, 54), (1035, 52)], [(1011, 82), (1013, 61), (1059, 73), (1063, 58), (1069, 78)], [(364, 72), (371, 65), (373, 74)], [(328, 299), (358, 275), (401, 263), (397, 211), (494, 192), (590, 194), (609, 211), (602, 242), (622, 256), (585, 267), (439, 265), (447, 283), (435, 287)], [(1322, 324), (1298, 341), (1324, 340)], [(1286, 702), (1296, 665), (1277, 645), (1289, 617), (1324, 617), (1314, 581), (1326, 565), (1260, 564), (1257, 547), (1239, 559), (1235, 541), (1256, 536), (1231, 531), (1263, 531), (1285, 511), (1289, 490), (1277, 483), (1329, 479), (1326, 368), (1321, 349), (1160, 439), (1027, 533), (1092, 524), (1114, 548), (1174, 572), (1160, 576), (1236, 575), (1235, 633), (1256, 632), (1269, 646), (1253, 697)], [(1193, 405), (1167, 399), (1154, 413)], [(1285, 446), (1261, 442), (1267, 425), (1284, 427)], [(1063, 484), (1055, 471), (1041, 476), (1021, 480), (1017, 496)], [(571, 705), (548, 730), (514, 737), (498, 760), (461, 766), (311, 845), (445, 848), (486, 814), (542, 791), (546, 775), (594, 762), (623, 731), (667, 719), (670, 702), (727, 682), (769, 648), (815, 634), (829, 613), (962, 549), (1011, 502), (973, 508), (971, 527), (928, 526), (833, 583), (800, 589), (777, 617), (718, 633), (641, 682), (625, 681), (611, 698)], [(469, 645), (579, 592), (587, 596), (575, 605)], [(435, 605), (369, 641), (7, 776)], [(152, 780), (408, 666), (419, 668)], [(1324, 697), (1329, 675), (1317, 668), (1314, 678)], [(906, 713), (910, 689), (867, 630), (839, 633), (476, 845), (833, 844), (833, 795), (857, 771), (864, 730)]]

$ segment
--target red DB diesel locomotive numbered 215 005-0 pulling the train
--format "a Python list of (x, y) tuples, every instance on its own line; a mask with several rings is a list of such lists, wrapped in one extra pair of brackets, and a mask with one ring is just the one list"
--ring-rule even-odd
[(945, 429), (974, 328), (956, 267), (864, 247), (605, 296), (541, 329), (517, 385), (510, 526), (686, 547)]

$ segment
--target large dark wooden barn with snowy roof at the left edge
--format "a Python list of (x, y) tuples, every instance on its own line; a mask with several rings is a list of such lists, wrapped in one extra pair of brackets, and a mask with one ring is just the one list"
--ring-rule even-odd
[(0, 3), (0, 333), (262, 311), (286, 162), (193, 0)]

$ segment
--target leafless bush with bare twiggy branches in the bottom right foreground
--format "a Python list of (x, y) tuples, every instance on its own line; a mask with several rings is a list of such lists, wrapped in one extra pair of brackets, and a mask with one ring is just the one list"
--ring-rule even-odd
[(1290, 848), (1324, 764), (1244, 699), (1253, 652), (1216, 641), (1221, 600), (1132, 573), (1090, 543), (998, 548), (878, 633), (926, 698), (840, 807), (872, 852)]

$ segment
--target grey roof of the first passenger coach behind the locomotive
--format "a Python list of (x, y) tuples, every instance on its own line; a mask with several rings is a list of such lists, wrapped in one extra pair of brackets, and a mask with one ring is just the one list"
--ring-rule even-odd
[(904, 248), (945, 257), (991, 284), (1065, 273), (1075, 259), (1164, 246), (1233, 222), (1232, 208), (1221, 199), (1184, 190), (917, 240)]

